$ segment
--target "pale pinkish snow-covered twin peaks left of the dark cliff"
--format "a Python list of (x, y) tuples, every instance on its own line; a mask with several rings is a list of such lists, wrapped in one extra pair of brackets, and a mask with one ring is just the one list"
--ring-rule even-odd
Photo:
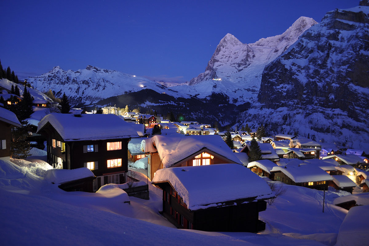
[(235, 104), (256, 98), (266, 64), (281, 55), (299, 36), (317, 24), (312, 18), (300, 17), (283, 34), (242, 44), (232, 34), (221, 39), (204, 73), (193, 78), (189, 86), (172, 87), (199, 98), (224, 93)]

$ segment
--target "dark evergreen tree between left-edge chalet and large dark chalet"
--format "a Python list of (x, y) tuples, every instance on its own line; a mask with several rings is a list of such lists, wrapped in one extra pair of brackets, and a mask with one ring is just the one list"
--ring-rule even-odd
[(21, 127), (14, 127), (11, 130), (13, 142), (10, 145), (10, 157), (15, 159), (25, 159), (30, 156), (28, 152), (31, 150), (31, 145), (27, 141), (30, 124), (26, 124), (25, 121), (21, 123)]

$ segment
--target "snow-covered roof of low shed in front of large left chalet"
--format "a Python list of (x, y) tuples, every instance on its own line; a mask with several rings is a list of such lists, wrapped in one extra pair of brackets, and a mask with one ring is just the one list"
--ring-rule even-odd
[(50, 169), (47, 171), (45, 179), (51, 183), (63, 184), (87, 177), (95, 177), (95, 175), (87, 167), (81, 167), (77, 169)]

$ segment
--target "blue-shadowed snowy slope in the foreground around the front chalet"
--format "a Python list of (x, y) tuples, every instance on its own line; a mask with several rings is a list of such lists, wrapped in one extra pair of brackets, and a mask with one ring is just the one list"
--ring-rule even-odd
[(128, 204), (115, 185), (63, 191), (44, 178), (48, 169), (38, 159), (0, 160), (3, 245), (334, 245), (347, 213), (331, 204), (345, 193), (326, 192), (322, 213), (323, 191), (284, 185), (287, 193), (259, 214), (267, 223), (261, 234), (180, 230), (159, 214), (162, 191), (152, 185), (150, 200)]

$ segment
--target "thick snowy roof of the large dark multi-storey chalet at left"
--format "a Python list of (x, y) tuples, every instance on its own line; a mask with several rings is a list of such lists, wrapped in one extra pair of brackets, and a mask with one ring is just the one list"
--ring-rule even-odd
[(39, 132), (47, 123), (58, 132), (64, 141), (101, 140), (138, 137), (131, 124), (114, 114), (73, 114), (52, 113), (38, 124)]

